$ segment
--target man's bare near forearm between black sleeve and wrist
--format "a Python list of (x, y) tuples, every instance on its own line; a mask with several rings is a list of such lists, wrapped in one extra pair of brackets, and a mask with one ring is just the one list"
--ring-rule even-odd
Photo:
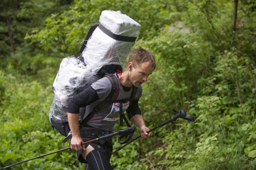
[(73, 114), (73, 113), (68, 113), (68, 120), (70, 124), (70, 129), (72, 132), (73, 137), (80, 137), (80, 132), (79, 132), (79, 114)]

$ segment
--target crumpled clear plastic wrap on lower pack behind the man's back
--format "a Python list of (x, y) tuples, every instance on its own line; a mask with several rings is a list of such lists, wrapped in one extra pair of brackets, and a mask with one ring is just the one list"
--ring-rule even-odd
[[(66, 57), (62, 60), (52, 86), (54, 99), (50, 109), (50, 116), (54, 121), (68, 121), (69, 101), (73, 96), (89, 86), (90, 81), (85, 79), (88, 74), (91, 75), (85, 69), (84, 63), (76, 57)], [(80, 108), (80, 119), (83, 117), (84, 112), (85, 108)]]

